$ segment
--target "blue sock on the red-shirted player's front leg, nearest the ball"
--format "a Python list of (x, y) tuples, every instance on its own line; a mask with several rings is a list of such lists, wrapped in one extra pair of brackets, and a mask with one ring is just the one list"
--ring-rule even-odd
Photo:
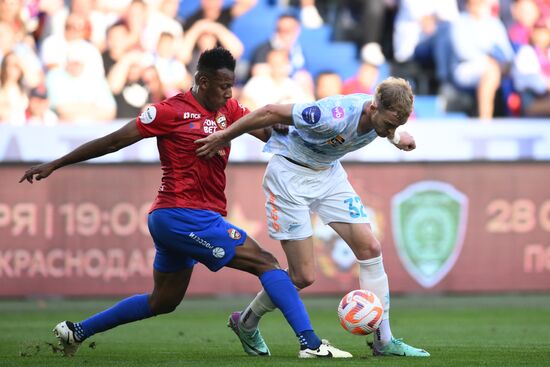
[(298, 336), (300, 345), (319, 348), (321, 340), (313, 331), (306, 308), (287, 272), (281, 269), (266, 271), (260, 275), (260, 281), (273, 304), (281, 310)]

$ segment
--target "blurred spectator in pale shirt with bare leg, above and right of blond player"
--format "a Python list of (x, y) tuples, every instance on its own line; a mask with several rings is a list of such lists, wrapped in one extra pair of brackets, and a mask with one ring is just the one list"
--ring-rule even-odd
[(493, 117), (495, 95), (514, 52), (504, 25), (491, 15), (488, 0), (468, 0), (466, 9), (451, 25), (456, 57), (453, 81), (460, 88), (476, 90), (478, 115), (488, 120)]

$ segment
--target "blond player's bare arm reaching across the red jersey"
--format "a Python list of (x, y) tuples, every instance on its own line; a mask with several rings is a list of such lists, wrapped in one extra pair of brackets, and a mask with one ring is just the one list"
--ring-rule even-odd
[(203, 139), (195, 140), (202, 144), (196, 152), (199, 157), (211, 158), (222, 147), (236, 137), (276, 124), (292, 125), (292, 104), (271, 104), (241, 117), (225, 130), (220, 130)]

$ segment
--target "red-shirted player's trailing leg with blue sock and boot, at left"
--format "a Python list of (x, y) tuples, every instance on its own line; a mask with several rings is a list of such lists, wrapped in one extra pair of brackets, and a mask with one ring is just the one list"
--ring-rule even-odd
[(173, 273), (154, 270), (154, 289), (151, 294), (128, 297), (111, 308), (83, 321), (63, 321), (56, 325), (54, 334), (63, 347), (63, 353), (72, 356), (80, 344), (92, 335), (129, 322), (172, 312), (183, 299), (193, 268)]

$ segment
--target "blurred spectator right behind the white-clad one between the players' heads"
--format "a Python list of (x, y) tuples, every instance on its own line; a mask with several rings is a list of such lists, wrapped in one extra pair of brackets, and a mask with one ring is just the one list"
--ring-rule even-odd
[(300, 31), (301, 27), (298, 18), (290, 13), (282, 14), (277, 19), (275, 32), (271, 38), (260, 44), (254, 50), (250, 62), (251, 75), (256, 75), (258, 73), (258, 68), (265, 67), (267, 55), (271, 50), (284, 50), (288, 53), (291, 65), (291, 75), (304, 70), (306, 66), (306, 59), (302, 51), (302, 47), (298, 42)]

